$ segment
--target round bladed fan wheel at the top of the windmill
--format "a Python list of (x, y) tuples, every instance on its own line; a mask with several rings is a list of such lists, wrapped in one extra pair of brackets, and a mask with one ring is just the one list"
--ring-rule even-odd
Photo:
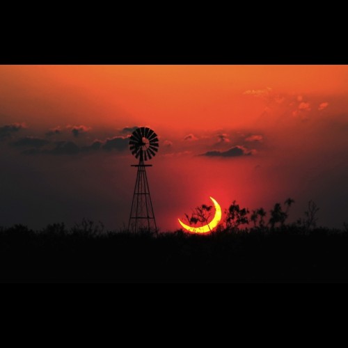
[(136, 159), (148, 161), (155, 157), (158, 148), (157, 134), (148, 127), (137, 128), (129, 139), (129, 150)]

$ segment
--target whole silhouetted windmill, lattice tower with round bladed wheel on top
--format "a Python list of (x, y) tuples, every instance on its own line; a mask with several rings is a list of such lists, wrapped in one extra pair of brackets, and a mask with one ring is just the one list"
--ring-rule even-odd
[(147, 127), (136, 129), (129, 139), (129, 150), (131, 150), (132, 155), (136, 159), (139, 159), (139, 164), (132, 165), (132, 167), (138, 168), (138, 173), (136, 174), (132, 208), (129, 216), (129, 232), (135, 233), (150, 230), (157, 232), (148, 177), (145, 171), (146, 167), (151, 167), (152, 165), (145, 164), (145, 161), (155, 157), (158, 148), (157, 134)]

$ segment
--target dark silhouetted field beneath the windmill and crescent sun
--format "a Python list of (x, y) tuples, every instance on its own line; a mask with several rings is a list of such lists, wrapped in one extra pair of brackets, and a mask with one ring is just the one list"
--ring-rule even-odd
[(348, 232), (253, 228), (131, 235), (92, 224), (0, 228), (6, 282), (346, 282)]

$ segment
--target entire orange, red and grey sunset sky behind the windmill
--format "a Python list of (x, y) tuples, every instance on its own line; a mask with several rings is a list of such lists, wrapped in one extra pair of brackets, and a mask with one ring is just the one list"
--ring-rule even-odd
[(127, 226), (137, 160), (157, 226), (215, 198), (250, 210), (309, 200), (318, 224), (348, 222), (348, 65), (0, 65), (0, 226)]

